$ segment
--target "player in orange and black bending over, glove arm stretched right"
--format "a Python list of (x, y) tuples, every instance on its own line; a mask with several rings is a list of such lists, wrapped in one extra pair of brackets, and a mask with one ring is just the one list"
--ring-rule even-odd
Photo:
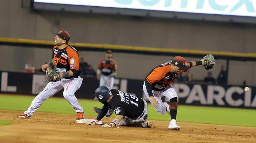
[[(209, 70), (214, 64), (215, 59), (212, 55), (206, 55), (198, 62), (186, 62), (183, 57), (177, 56), (174, 57), (172, 61), (156, 66), (149, 72), (143, 84), (143, 91), (159, 114), (167, 112), (171, 115), (168, 129), (180, 129), (176, 123), (178, 96), (172, 86), (174, 79), (177, 78), (181, 72), (185, 72), (193, 66), (203, 65), (206, 70)], [(162, 102), (160, 95), (168, 98), (170, 101), (169, 105), (166, 102)]]

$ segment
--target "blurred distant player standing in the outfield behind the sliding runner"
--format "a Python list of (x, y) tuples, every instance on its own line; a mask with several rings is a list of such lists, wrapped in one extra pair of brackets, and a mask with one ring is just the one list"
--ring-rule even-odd
[[(100, 80), (100, 86), (106, 86), (112, 89), (114, 86), (114, 77), (117, 73), (117, 64), (114, 59), (112, 59), (112, 51), (108, 50), (105, 54), (106, 58), (100, 61), (97, 70), (97, 79)], [(93, 108), (94, 112), (97, 113), (98, 108)], [(109, 118), (113, 114), (113, 110), (109, 110), (105, 115), (105, 118)]]

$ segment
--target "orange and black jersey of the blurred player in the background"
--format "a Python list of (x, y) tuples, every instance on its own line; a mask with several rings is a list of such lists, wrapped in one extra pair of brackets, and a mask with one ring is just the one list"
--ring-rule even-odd
[(109, 76), (111, 73), (116, 71), (116, 61), (114, 59), (102, 59), (98, 69), (101, 70), (101, 73), (104, 76)]

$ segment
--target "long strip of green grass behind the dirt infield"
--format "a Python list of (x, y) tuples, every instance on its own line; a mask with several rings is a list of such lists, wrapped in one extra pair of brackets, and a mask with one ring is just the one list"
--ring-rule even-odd
[[(31, 104), (34, 96), (0, 95), (0, 109), (25, 111)], [(84, 108), (85, 115), (96, 116), (92, 107), (102, 107), (102, 104), (94, 100), (79, 99), (79, 104)], [(38, 112), (76, 114), (71, 105), (64, 98), (50, 98), (45, 100)], [(21, 112), (22, 113), (22, 112)], [(149, 120), (169, 121), (166, 113), (158, 114), (155, 108), (148, 106)], [(114, 116), (114, 115), (112, 115)], [(256, 127), (255, 109), (218, 108), (204, 106), (178, 106), (177, 120), (179, 122), (222, 124), (233, 126)]]

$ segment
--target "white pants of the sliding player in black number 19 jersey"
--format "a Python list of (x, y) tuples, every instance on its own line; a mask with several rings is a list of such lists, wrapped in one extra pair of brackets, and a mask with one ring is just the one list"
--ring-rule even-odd
[(144, 99), (142, 100), (144, 101), (144, 110), (142, 114), (136, 119), (131, 119), (127, 116), (124, 116), (124, 119), (122, 119), (117, 124), (118, 126), (144, 127), (144, 128), (148, 127), (148, 124), (147, 124), (148, 104)]

